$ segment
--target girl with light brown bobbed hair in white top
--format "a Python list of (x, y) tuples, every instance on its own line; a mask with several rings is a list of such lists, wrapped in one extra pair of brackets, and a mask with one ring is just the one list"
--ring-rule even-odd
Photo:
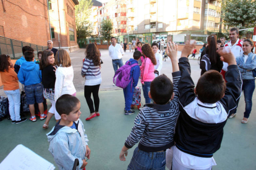
[(55, 63), (58, 67), (55, 73), (56, 82), (54, 86), (54, 100), (56, 102), (63, 94), (75, 96), (76, 91), (73, 84), (74, 70), (71, 65), (69, 53), (64, 49), (59, 49), (56, 52)]

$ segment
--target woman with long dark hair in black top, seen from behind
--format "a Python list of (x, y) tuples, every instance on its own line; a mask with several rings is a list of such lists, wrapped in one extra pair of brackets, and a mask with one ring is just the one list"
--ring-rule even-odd
[[(216, 35), (212, 34), (208, 36), (207, 42), (208, 46), (205, 48), (205, 50), (202, 52), (200, 60), (202, 59), (203, 55), (208, 54), (208, 58), (211, 62), (211, 68), (210, 70), (216, 70), (221, 72), (221, 69), (223, 67), (223, 62), (220, 60), (220, 55), (216, 52), (217, 51), (217, 44), (216, 44)], [(200, 68), (205, 68), (205, 66), (200, 65)], [(201, 76), (203, 73), (205, 73), (207, 70), (201, 71)]]

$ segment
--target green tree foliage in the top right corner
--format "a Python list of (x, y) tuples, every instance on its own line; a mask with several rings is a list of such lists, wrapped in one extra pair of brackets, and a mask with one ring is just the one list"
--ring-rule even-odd
[(256, 25), (255, 0), (223, 0), (222, 17), (224, 25), (250, 28)]

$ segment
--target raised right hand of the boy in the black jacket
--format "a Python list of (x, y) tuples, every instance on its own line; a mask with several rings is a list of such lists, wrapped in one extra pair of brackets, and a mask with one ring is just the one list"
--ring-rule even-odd
[(231, 52), (229, 47), (221, 47), (217, 52), (221, 56), (221, 61), (228, 63), (228, 65), (236, 65), (236, 58), (234, 57), (234, 54)]

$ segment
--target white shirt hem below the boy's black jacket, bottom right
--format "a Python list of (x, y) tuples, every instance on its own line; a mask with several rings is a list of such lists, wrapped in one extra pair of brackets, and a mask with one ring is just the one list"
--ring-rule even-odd
[(208, 169), (211, 166), (215, 166), (216, 162), (213, 157), (202, 158), (199, 156), (190, 155), (179, 150), (176, 146), (172, 147), (173, 159), (177, 163), (189, 169)]

